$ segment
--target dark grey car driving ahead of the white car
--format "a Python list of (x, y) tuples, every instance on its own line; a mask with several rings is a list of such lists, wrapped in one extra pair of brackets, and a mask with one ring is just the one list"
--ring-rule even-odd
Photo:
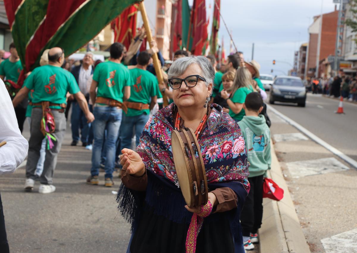
[(270, 92), (269, 102), (297, 103), (298, 106), (305, 107), (306, 90), (300, 77), (277, 76)]

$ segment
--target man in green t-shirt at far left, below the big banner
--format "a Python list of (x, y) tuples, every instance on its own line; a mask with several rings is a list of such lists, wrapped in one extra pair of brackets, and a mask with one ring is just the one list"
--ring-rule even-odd
[[(12, 87), (11, 83), (17, 83), (17, 79), (19, 79), (20, 72), (22, 70), (22, 65), (14, 43), (10, 44), (10, 53), (10, 57), (2, 61), (0, 64), (0, 78), (2, 81), (5, 82), (10, 97), (13, 98), (16, 95), (17, 89)], [(27, 98), (22, 100), (21, 103), (15, 108), (17, 124), (19, 125), (19, 129), (21, 132), (24, 127), (24, 122), (26, 118), (26, 107)]]

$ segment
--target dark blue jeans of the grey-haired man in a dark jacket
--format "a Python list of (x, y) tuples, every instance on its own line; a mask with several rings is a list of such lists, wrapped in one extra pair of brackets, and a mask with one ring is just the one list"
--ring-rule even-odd
[[(87, 119), (79, 107), (77, 101), (72, 102), (72, 115), (71, 115), (71, 130), (72, 130), (72, 140), (79, 141), (83, 143), (88, 142), (89, 129), (91, 123), (87, 123)], [(79, 137), (79, 129), (81, 129), (81, 138)]]

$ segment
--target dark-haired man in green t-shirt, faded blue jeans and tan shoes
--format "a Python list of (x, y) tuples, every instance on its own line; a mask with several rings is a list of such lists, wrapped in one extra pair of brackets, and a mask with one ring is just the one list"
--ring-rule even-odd
[[(121, 124), (121, 108), (125, 108), (122, 103), (129, 99), (130, 86), (132, 85), (129, 70), (121, 63), (123, 51), (123, 44), (119, 42), (112, 44), (109, 61), (98, 64), (93, 73), (89, 93), (93, 101), (93, 113), (96, 120), (93, 123), (94, 146), (92, 149), (91, 176), (87, 178), (87, 182), (90, 184), (99, 184), (98, 175), (105, 130), (107, 130), (107, 134), (105, 139), (104, 186), (111, 187), (114, 184), (115, 143)], [(98, 88), (97, 91), (96, 88)]]

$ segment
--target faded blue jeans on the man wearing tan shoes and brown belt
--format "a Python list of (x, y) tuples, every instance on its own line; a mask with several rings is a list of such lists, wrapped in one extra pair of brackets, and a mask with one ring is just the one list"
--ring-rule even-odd
[(99, 175), (99, 166), (102, 153), (103, 142), (105, 140), (104, 130), (107, 129), (105, 140), (106, 161), (105, 178), (113, 178), (113, 168), (115, 160), (115, 142), (118, 138), (122, 109), (109, 106), (95, 106), (93, 110), (95, 117), (93, 124), (94, 145), (92, 150), (91, 175)]

